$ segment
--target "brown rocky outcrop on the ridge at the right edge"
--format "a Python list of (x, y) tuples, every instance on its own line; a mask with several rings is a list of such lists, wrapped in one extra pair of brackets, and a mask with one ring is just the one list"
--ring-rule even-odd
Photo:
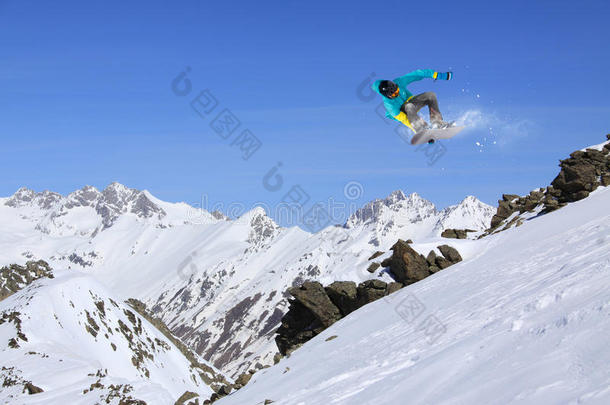
[[(610, 134), (606, 138), (610, 140)], [(527, 213), (532, 217), (555, 211), (586, 198), (599, 186), (610, 185), (610, 143), (600, 150), (572, 152), (559, 166), (559, 174), (548, 187), (533, 190), (526, 196), (503, 194), (491, 227), (481, 237), (521, 225)]]

